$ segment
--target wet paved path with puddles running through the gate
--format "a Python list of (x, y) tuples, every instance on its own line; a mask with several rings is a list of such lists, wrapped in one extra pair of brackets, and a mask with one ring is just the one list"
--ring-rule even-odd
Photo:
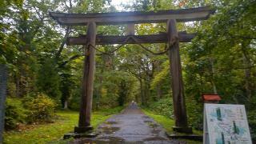
[(170, 140), (165, 130), (157, 122), (140, 110), (136, 103), (131, 103), (121, 114), (114, 115), (98, 126), (96, 138), (79, 138), (72, 143), (145, 143), (145, 144), (183, 144), (178, 140)]

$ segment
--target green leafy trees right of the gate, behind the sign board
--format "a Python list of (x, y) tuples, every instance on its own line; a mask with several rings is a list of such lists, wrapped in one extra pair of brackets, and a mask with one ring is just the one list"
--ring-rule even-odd
[[(182, 51), (190, 122), (202, 129), (201, 94), (221, 94), (222, 103), (244, 104), (250, 114), (256, 96), (255, 1), (212, 1), (216, 14), (195, 26), (198, 37)], [(250, 119), (253, 117), (249, 117)], [(253, 126), (253, 124), (251, 124)], [(252, 128), (252, 127), (251, 127)]]

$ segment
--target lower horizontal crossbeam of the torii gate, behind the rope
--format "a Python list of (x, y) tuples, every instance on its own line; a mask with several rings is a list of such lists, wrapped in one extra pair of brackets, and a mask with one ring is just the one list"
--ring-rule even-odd
[[(136, 39), (134, 41), (133, 38)], [(195, 34), (186, 34), (185, 32), (180, 32), (178, 34), (179, 42), (190, 42), (191, 39), (195, 37)], [(129, 39), (127, 39), (129, 38)], [(123, 35), (123, 36), (111, 36), (111, 35), (97, 35), (96, 45), (107, 45), (107, 44), (139, 44), (139, 43), (166, 43), (168, 42), (167, 34), (152, 34), (152, 35)], [(72, 45), (85, 45), (86, 35), (81, 35), (79, 37), (68, 37), (66, 38), (66, 44), (68, 46)]]

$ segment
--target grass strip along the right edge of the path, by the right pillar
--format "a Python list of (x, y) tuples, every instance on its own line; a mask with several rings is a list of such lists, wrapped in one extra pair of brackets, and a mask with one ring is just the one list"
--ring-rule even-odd
[[(154, 112), (147, 109), (142, 109), (142, 110), (150, 118), (153, 118), (155, 122), (158, 122), (166, 130), (167, 133), (170, 133), (170, 134), (174, 133), (174, 130), (172, 129), (172, 127), (174, 126), (174, 119), (167, 118), (166, 116), (163, 116), (163, 115), (154, 114)], [(193, 130), (193, 133), (202, 135), (202, 131), (198, 131), (198, 130)], [(181, 139), (181, 140), (186, 141), (190, 144), (202, 143), (202, 142), (192, 141), (192, 140), (185, 140), (185, 139)]]

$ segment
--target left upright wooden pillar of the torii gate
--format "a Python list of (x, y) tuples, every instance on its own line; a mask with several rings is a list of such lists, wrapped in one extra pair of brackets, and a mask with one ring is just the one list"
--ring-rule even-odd
[(90, 22), (87, 26), (87, 38), (85, 46), (85, 60), (84, 71), (82, 81), (82, 98), (80, 105), (80, 114), (78, 127), (74, 128), (75, 133), (84, 133), (88, 130), (92, 130), (90, 126), (90, 116), (93, 100), (94, 89), (94, 63), (95, 63), (95, 40), (96, 40), (96, 24)]

